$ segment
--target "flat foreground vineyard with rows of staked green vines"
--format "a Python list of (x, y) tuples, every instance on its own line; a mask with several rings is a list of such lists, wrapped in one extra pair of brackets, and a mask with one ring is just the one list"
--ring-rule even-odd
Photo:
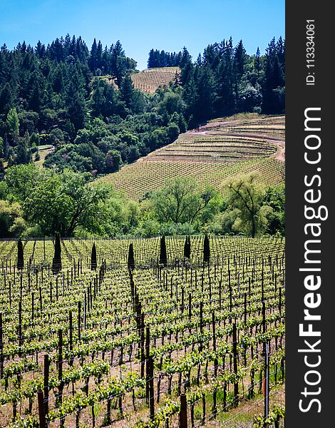
[(159, 238), (98, 239), (92, 270), (93, 241), (62, 240), (53, 274), (52, 240), (24, 241), (23, 269), (1, 241), (0, 426), (232, 427), (247, 405), (249, 427), (266, 348), (282, 426), (284, 239), (210, 237), (209, 262), (202, 236), (188, 259), (184, 243), (166, 238), (160, 263)]

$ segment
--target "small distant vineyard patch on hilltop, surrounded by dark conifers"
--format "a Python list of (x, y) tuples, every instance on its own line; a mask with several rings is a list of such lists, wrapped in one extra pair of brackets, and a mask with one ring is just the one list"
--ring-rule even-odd
[(155, 93), (159, 86), (169, 86), (170, 81), (175, 81), (176, 73), (179, 75), (179, 67), (148, 68), (131, 75), (135, 88), (146, 93)]

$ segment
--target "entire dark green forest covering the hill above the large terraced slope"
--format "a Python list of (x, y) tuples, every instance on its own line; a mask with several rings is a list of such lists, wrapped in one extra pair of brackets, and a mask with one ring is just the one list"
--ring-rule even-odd
[(81, 36), (45, 46), (23, 41), (0, 50), (0, 179), (4, 163), (29, 164), (36, 147), (53, 152), (45, 167), (92, 175), (111, 173), (217, 116), (284, 111), (282, 38), (261, 55), (248, 55), (242, 41), (207, 46), (196, 61), (151, 50), (148, 66), (180, 66), (180, 80), (145, 94), (134, 88), (137, 63), (120, 41), (110, 47)]

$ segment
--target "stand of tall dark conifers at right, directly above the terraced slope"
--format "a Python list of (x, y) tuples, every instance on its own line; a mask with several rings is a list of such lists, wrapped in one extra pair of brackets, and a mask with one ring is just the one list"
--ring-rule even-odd
[(187, 49), (182, 52), (181, 83), (190, 126), (209, 118), (254, 111), (284, 113), (285, 44), (282, 38), (247, 55), (242, 40), (232, 39), (207, 46), (195, 63)]

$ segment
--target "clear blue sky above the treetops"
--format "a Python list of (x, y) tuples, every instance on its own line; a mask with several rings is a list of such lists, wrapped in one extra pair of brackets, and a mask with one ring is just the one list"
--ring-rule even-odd
[(94, 37), (103, 46), (123, 44), (127, 56), (146, 67), (151, 48), (180, 51), (195, 60), (208, 44), (242, 39), (248, 54), (264, 53), (272, 37), (284, 38), (284, 0), (0, 0), (0, 46), (36, 46), (56, 37)]

